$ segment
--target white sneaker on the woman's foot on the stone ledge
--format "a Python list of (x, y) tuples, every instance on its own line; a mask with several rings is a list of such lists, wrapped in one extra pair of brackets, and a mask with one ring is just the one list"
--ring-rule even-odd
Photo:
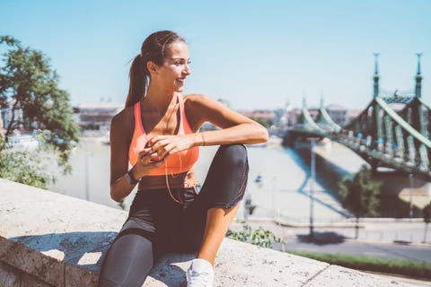
[(213, 265), (204, 259), (193, 259), (186, 277), (187, 287), (212, 287), (214, 281)]

